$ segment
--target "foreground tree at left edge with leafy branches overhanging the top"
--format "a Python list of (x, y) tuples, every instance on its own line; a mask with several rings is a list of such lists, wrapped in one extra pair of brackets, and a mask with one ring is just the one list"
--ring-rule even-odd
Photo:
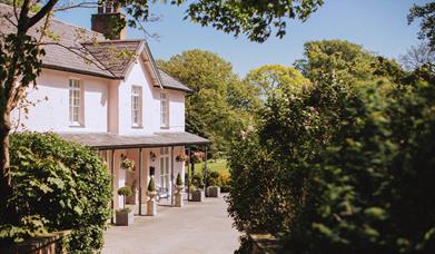
[[(7, 199), (12, 192), (9, 176), (10, 113), (22, 99), (26, 89), (36, 85), (36, 78), (41, 71), (41, 56), (45, 53), (43, 39), (49, 36), (47, 28), (53, 11), (97, 7), (103, 1), (66, 3), (59, 0), (42, 2), (6, 0), (6, 2), (13, 4), (13, 13), (3, 18), (14, 27), (14, 31), (8, 35), (2, 33), (0, 40), (0, 167), (2, 172), (0, 223), (17, 223), (14, 206), (7, 205)], [(177, 6), (185, 2), (185, 0), (170, 1), (171, 4)], [(115, 22), (113, 27), (119, 30), (126, 23), (136, 27), (140, 25), (140, 21), (151, 19), (148, 0), (118, 0), (109, 2), (109, 4), (112, 4), (113, 8), (123, 8), (129, 17), (128, 20), (111, 20)], [(212, 26), (225, 32), (234, 32), (236, 36), (244, 32), (254, 41), (264, 41), (270, 36), (273, 27), (278, 29), (277, 36), (284, 36), (285, 18), (306, 20), (322, 4), (322, 0), (199, 1), (188, 6), (186, 18), (202, 26)], [(42, 26), (38, 36), (32, 37), (29, 31), (37, 23)]]

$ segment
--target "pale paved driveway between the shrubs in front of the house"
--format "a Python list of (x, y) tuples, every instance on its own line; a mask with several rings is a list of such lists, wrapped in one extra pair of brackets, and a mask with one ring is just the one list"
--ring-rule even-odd
[(111, 226), (102, 253), (233, 253), (240, 234), (226, 209), (221, 197), (185, 202), (181, 208), (159, 206), (157, 216), (136, 216), (129, 227)]

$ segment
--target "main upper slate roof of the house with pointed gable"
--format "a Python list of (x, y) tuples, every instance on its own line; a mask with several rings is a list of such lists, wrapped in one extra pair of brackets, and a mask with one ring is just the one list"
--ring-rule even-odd
[[(12, 7), (0, 3), (0, 33), (3, 35), (16, 30), (6, 17), (16, 20)], [(37, 28), (41, 26), (42, 21), (33, 26), (29, 35), (38, 38), (40, 33)], [(158, 81), (164, 88), (190, 91), (187, 86), (171, 77), (165, 77), (166, 81), (162, 80), (149, 47), (144, 40), (105, 40), (99, 32), (56, 19), (49, 23), (49, 31), (56, 39), (48, 39), (48, 43), (43, 46), (46, 56), (42, 57), (42, 67), (45, 68), (109, 79), (123, 79), (129, 66), (140, 55), (140, 50), (147, 50)]]

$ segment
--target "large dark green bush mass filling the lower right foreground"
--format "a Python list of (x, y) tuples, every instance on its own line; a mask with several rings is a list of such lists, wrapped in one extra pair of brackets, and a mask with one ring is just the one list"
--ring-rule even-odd
[(238, 229), (287, 253), (435, 251), (435, 85), (355, 77), (277, 90), (234, 143)]

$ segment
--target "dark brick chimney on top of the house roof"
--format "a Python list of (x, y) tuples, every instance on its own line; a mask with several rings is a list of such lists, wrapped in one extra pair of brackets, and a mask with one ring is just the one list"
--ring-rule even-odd
[(98, 4), (98, 13), (92, 14), (91, 29), (96, 32), (101, 32), (107, 39), (123, 40), (127, 35), (127, 26), (121, 31), (113, 31), (113, 20), (117, 18), (126, 19), (121, 13), (121, 8), (113, 4), (112, 1), (103, 1)]

